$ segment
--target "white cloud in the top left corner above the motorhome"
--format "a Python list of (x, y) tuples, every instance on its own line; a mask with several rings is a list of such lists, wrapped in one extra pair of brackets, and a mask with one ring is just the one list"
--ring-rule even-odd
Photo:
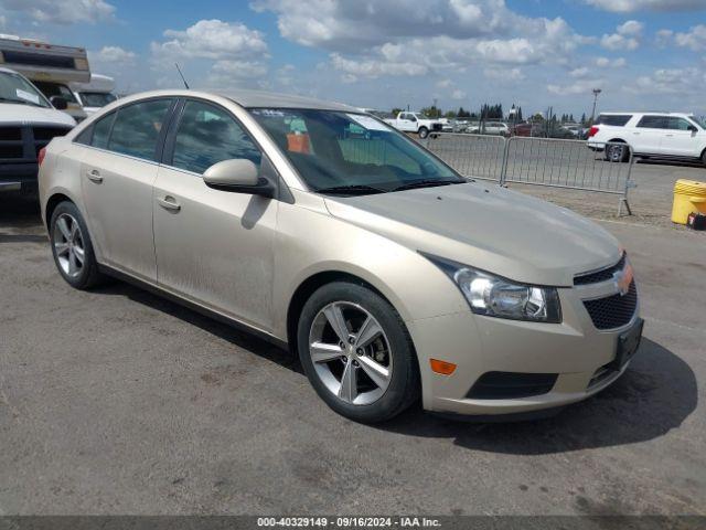
[(3, 0), (2, 7), (36, 22), (56, 24), (110, 20), (116, 10), (105, 0)]

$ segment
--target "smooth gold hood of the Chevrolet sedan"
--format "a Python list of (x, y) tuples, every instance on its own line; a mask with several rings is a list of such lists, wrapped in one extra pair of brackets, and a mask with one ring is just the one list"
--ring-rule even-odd
[(329, 212), (405, 246), (517, 282), (570, 286), (618, 262), (601, 226), (548, 202), (492, 184), (327, 198)]

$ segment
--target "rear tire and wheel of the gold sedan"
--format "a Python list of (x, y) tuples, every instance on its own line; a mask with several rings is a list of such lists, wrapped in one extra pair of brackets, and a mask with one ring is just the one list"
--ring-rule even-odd
[(88, 227), (73, 202), (56, 205), (50, 220), (49, 236), (54, 264), (68, 285), (83, 290), (105, 280), (98, 272)]

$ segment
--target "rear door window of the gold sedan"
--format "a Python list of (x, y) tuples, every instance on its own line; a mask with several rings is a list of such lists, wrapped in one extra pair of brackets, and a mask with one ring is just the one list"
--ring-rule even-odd
[(146, 160), (157, 160), (157, 139), (171, 104), (172, 99), (153, 99), (119, 108), (108, 149)]

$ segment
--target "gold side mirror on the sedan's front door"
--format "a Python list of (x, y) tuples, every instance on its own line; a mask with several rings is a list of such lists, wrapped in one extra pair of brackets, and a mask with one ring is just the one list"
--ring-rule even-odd
[(275, 197), (272, 183), (260, 177), (257, 166), (245, 158), (233, 158), (214, 163), (203, 173), (207, 187), (235, 193)]

